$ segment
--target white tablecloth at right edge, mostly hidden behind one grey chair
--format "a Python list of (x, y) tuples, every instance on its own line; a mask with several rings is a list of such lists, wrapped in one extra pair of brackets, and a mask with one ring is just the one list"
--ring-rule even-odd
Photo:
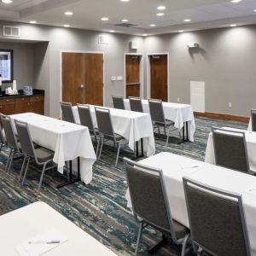
[[(230, 128), (230, 127), (224, 127), (224, 129), (227, 129), (230, 131), (243, 131), (246, 133), (247, 154), (249, 159), (250, 170), (253, 172), (256, 172), (256, 132), (245, 131), (245, 130)], [(212, 132), (209, 134), (208, 141), (207, 141), (205, 162), (215, 165)]]

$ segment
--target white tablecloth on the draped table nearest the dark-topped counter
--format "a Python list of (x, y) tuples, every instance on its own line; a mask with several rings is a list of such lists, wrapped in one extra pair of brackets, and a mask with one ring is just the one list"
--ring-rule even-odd
[(37, 113), (19, 113), (10, 116), (28, 123), (32, 140), (55, 152), (54, 161), (63, 173), (65, 161), (80, 157), (81, 180), (90, 183), (96, 154), (87, 127), (52, 119)]

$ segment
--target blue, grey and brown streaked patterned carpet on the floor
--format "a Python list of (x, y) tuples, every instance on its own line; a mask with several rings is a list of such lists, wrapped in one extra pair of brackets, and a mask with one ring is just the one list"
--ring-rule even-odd
[[(218, 119), (196, 118), (195, 124), (195, 143), (177, 145), (177, 132), (174, 132), (169, 146), (166, 147), (165, 137), (156, 135), (156, 153), (168, 151), (196, 160), (204, 160), (208, 133), (213, 125), (247, 129), (246, 124)], [(45, 201), (118, 255), (134, 254), (138, 225), (126, 208), (125, 170), (121, 160), (119, 166), (114, 167), (116, 152), (113, 147), (103, 148), (102, 160), (96, 162), (93, 182), (89, 185), (75, 183), (62, 189), (55, 189), (55, 186), (65, 181), (66, 177), (62, 177), (58, 172), (49, 172), (44, 177), (40, 193), (37, 192), (40, 174), (37, 168), (33, 166), (29, 170), (26, 184), (22, 187), (17, 182), (21, 160), (15, 160), (13, 170), (8, 175), (3, 172), (3, 165), (6, 162), (4, 154), (5, 152), (0, 156), (0, 215), (34, 201)], [(125, 148), (121, 156), (132, 158), (133, 154)], [(148, 255), (146, 249), (159, 240), (160, 234), (155, 230), (146, 230), (140, 255)], [(157, 253), (157, 255), (179, 254), (180, 247), (172, 244)]]

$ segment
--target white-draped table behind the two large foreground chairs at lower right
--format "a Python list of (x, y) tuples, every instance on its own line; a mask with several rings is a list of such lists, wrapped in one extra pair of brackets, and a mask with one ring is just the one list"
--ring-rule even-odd
[[(172, 218), (188, 228), (189, 218), (183, 190), (183, 177), (242, 195), (251, 253), (253, 256), (256, 255), (256, 177), (167, 152), (155, 154), (139, 163), (162, 170)], [(129, 190), (125, 197), (127, 206), (131, 208)]]

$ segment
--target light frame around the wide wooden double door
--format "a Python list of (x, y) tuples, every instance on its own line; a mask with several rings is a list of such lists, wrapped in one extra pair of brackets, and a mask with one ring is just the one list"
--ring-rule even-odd
[(103, 106), (105, 106), (105, 54), (103, 51), (88, 51), (88, 50), (67, 50), (60, 51), (60, 102), (62, 102), (62, 53), (87, 53), (87, 54), (100, 54), (103, 57)]

